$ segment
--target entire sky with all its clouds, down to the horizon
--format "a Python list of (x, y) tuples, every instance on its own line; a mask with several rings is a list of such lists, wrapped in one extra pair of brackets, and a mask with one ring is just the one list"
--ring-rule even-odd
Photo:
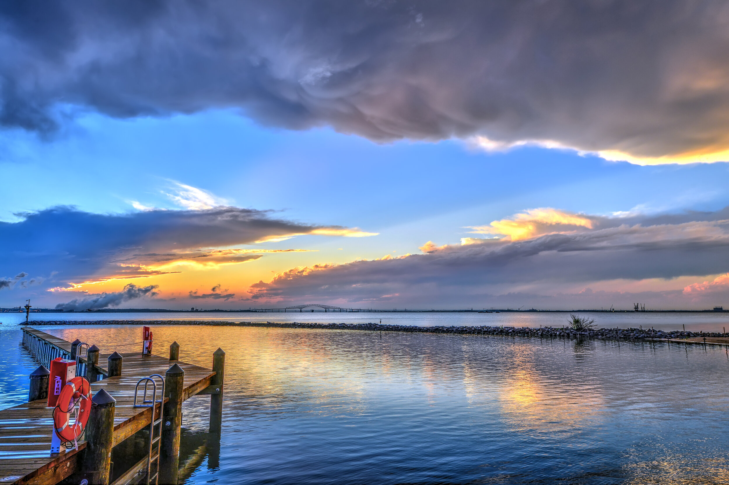
[(729, 297), (721, 2), (26, 7), (0, 306)]

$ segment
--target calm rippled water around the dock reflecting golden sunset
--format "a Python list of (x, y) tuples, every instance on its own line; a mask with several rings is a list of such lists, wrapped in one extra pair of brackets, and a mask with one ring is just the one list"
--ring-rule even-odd
[[(351, 321), (345, 316), (331, 321)], [(250, 318), (233, 318), (243, 319)], [(0, 406), (7, 407), (23, 401), (36, 364), (19, 346), (19, 327), (0, 320), (9, 356), (0, 363)], [(102, 351), (139, 347), (122, 345), (141, 335), (141, 326), (42, 330)], [(187, 484), (729, 483), (723, 347), (289, 328), (153, 331), (157, 352), (176, 340), (180, 358), (192, 363), (209, 366), (217, 347), (227, 352), (219, 464), (214, 446), (198, 448), (208, 398), (184, 406), (186, 456), (205, 454)]]

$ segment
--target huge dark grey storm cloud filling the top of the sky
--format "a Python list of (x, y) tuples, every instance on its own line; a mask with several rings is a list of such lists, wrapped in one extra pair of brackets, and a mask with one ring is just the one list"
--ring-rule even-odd
[(20, 1), (0, 123), (240, 108), (375, 140), (729, 149), (724, 1)]

